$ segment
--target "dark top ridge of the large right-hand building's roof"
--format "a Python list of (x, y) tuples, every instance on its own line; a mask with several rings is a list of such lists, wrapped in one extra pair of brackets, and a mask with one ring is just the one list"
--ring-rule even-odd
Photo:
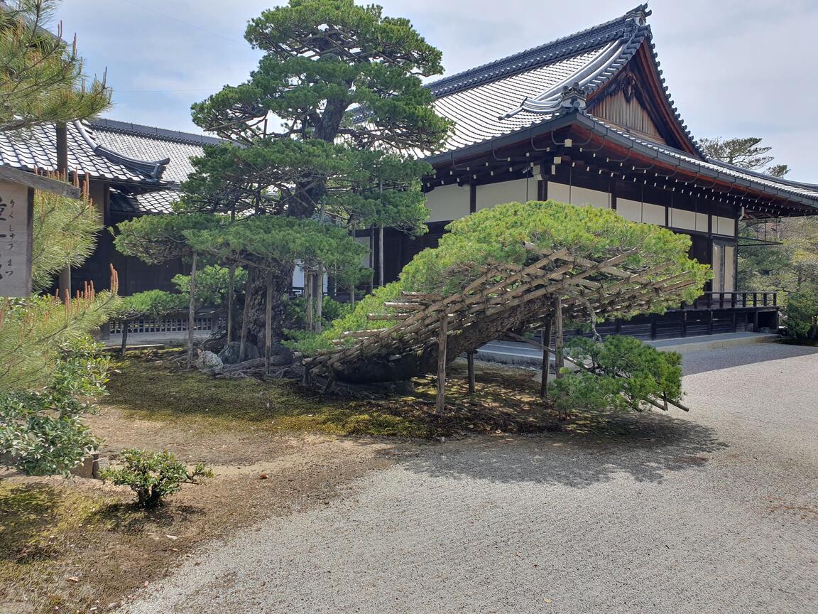
[[(530, 47), (524, 51), (502, 57), (499, 60), (443, 77), (426, 84), (425, 88), (431, 89), (435, 96), (440, 97), (460, 89), (470, 88), (479, 83), (528, 70), (533, 65), (546, 64), (555, 61), (559, 57), (576, 55), (586, 51), (589, 47), (608, 43), (617, 34), (625, 36), (628, 29), (645, 25), (645, 18), (650, 15), (650, 12), (646, 3), (640, 4), (616, 19), (557, 38), (550, 43)], [(622, 30), (621, 34), (620, 29)], [(598, 34), (598, 36), (594, 37), (593, 34)]]

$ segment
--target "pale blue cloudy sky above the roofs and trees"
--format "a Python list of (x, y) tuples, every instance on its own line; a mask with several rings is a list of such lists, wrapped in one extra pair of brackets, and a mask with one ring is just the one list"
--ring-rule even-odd
[[(366, 0), (368, 3), (369, 0)], [(443, 52), (446, 74), (624, 14), (636, 0), (381, 0)], [(64, 0), (85, 71), (107, 70), (106, 117), (200, 133), (190, 106), (239, 84), (260, 53), (247, 21), (271, 0)], [(818, 183), (818, 0), (654, 0), (648, 23), (681, 117), (695, 138), (761, 137), (788, 178)]]

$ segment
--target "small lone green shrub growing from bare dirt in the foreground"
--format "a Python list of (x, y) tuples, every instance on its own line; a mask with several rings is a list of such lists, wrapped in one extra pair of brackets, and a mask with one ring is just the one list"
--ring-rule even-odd
[(121, 460), (124, 467), (110, 467), (101, 472), (103, 481), (118, 486), (129, 486), (137, 494), (137, 506), (155, 508), (163, 499), (182, 490), (182, 484), (199, 484), (197, 477), (213, 477), (213, 472), (199, 463), (188, 471), (173, 454), (147, 452), (141, 449), (125, 449)]

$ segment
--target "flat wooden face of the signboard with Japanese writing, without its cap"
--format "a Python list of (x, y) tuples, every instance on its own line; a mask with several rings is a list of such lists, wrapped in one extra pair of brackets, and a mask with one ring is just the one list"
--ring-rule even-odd
[(31, 294), (34, 189), (0, 180), (0, 296)]

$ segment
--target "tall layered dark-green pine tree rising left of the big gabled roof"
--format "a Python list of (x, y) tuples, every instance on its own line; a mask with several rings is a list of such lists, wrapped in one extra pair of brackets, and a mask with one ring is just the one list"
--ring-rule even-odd
[[(288, 255), (281, 259), (267, 253), (268, 245), (256, 253), (258, 237), (244, 231), (231, 231), (223, 241), (212, 237), (214, 245), (229, 247), (233, 262), (259, 264), (272, 274), (278, 337), (281, 290), (289, 290), (294, 267), (289, 255), (309, 258), (303, 246), (314, 244), (317, 252), (343, 260), (321, 256), (306, 263), (317, 267), (318, 277), (333, 267), (349, 273), (358, 249), (349, 229), (425, 232), (420, 178), (431, 168), (411, 153), (434, 150), (450, 124), (435, 114), (433, 96), (421, 83), (442, 72), (440, 52), (408, 20), (384, 16), (381, 7), (290, 0), (250, 20), (245, 38), (264, 53), (258, 68), (244, 83), (192, 107), (196, 124), (229, 142), (206, 147), (194, 160), (181, 210), (317, 218), (318, 224), (290, 225), (276, 235), (292, 242), (276, 247)], [(327, 233), (319, 228), (324, 223), (346, 229)], [(236, 242), (242, 236), (246, 246)], [(263, 327), (262, 291), (259, 275), (250, 287), (256, 338)]]

